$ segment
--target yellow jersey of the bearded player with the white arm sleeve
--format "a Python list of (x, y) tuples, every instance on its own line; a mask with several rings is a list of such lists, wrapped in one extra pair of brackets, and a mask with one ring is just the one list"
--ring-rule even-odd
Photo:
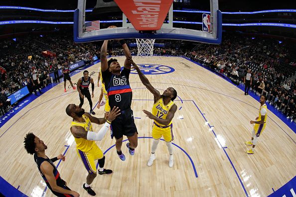
[[(76, 122), (75, 120), (72, 121), (71, 127), (72, 126), (81, 126), (85, 129), (85, 132), (88, 131), (93, 131), (93, 126), (92, 123), (86, 115), (82, 115), (84, 122)], [(83, 138), (76, 138), (74, 137), (75, 142), (76, 142), (76, 148), (83, 151), (83, 152), (88, 152), (92, 147), (95, 145), (95, 141), (90, 141), (87, 139)]]

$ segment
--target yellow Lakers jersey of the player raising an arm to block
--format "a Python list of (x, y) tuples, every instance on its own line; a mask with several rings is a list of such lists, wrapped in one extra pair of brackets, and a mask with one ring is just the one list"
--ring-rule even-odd
[[(157, 100), (152, 107), (152, 114), (155, 115), (156, 117), (159, 117), (161, 119), (165, 119), (166, 115), (169, 111), (169, 109), (171, 108), (171, 106), (174, 104), (174, 102), (172, 100), (169, 101), (169, 103), (167, 105), (163, 104), (163, 99), (160, 98), (159, 100)], [(160, 124), (158, 122), (155, 121), (156, 124), (158, 124), (159, 126), (166, 126), (163, 124)], [(171, 122), (168, 124), (170, 125)]]

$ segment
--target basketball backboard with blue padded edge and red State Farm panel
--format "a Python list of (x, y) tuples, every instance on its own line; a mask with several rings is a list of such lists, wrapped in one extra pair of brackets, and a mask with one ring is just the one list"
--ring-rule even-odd
[[(218, 0), (210, 0), (210, 31), (173, 27), (172, 1), (115, 0), (115, 2), (104, 2), (98, 0), (97, 6), (101, 4), (101, 6), (106, 6), (106, 9), (108, 9), (107, 7), (118, 5), (123, 10), (122, 27), (86, 31), (86, 0), (78, 0), (78, 7), (74, 12), (74, 41), (81, 43), (107, 39), (144, 38), (187, 40), (211, 44), (221, 43), (222, 13), (218, 9)], [(118, 20), (116, 21), (118, 22)], [(164, 21), (166, 22), (164, 23)]]

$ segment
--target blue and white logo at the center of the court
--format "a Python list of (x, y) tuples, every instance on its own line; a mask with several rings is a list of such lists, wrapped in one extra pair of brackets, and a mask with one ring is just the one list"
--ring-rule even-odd
[[(172, 67), (158, 64), (138, 64), (138, 67), (144, 75), (161, 75), (172, 73), (175, 71), (175, 69), (173, 69)], [(131, 73), (138, 75), (135, 69), (133, 69)]]

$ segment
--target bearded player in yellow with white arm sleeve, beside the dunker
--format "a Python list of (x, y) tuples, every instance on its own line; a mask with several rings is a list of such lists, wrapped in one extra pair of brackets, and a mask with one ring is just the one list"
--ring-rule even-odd
[[(86, 183), (83, 184), (83, 188), (88, 194), (95, 196), (96, 193), (90, 187), (90, 184), (97, 176), (95, 160), (98, 160), (100, 167), (99, 175), (111, 174), (112, 170), (104, 169), (105, 156), (94, 141), (100, 141), (103, 139), (111, 122), (120, 115), (120, 109), (114, 106), (109, 114), (105, 114), (105, 118), (96, 118), (89, 113), (85, 113), (84, 109), (81, 107), (75, 104), (69, 104), (66, 108), (66, 113), (73, 118), (70, 130), (76, 142), (77, 154), (88, 172)], [(92, 122), (96, 124), (105, 124), (100, 131), (96, 133), (93, 132)]]

